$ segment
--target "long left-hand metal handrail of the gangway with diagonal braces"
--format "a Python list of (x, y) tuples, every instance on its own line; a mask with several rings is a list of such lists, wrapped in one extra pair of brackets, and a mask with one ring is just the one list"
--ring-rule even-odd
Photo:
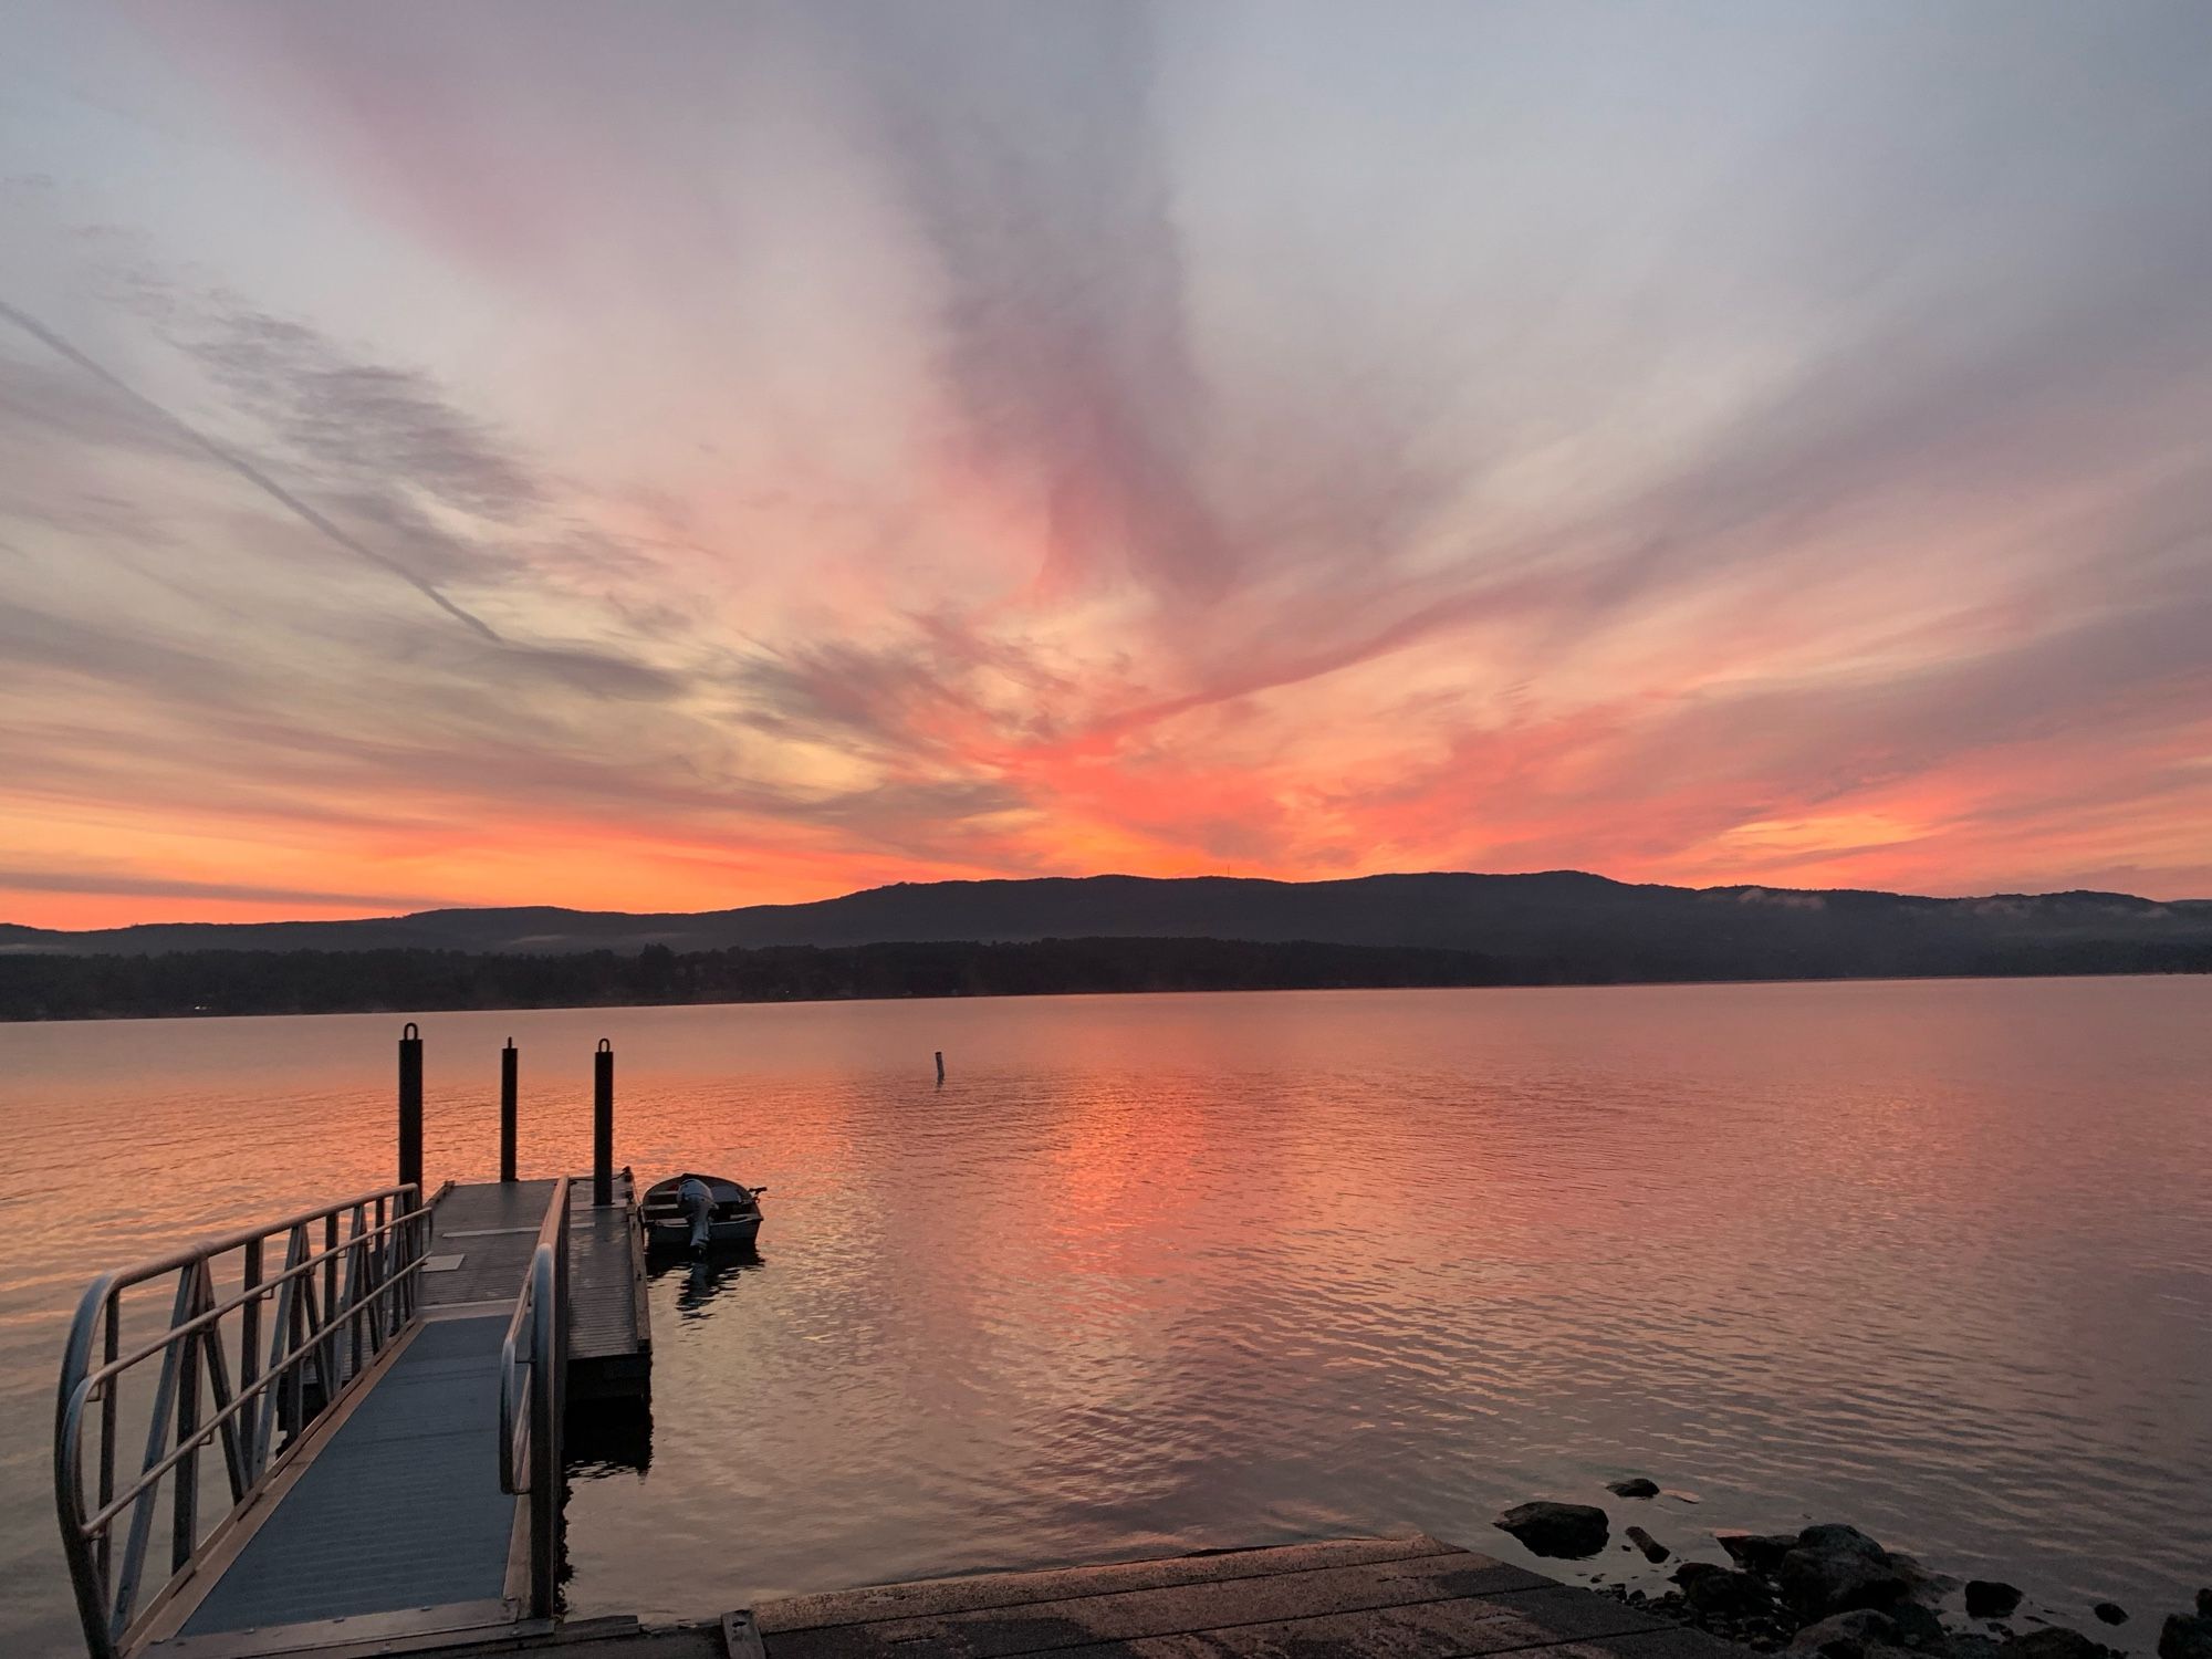
[[(341, 1239), (343, 1219), (352, 1228)], [(321, 1223), (321, 1248), (312, 1230)], [(285, 1261), (263, 1274), (265, 1245), (285, 1241)], [(418, 1318), (418, 1276), (429, 1210), (416, 1186), (389, 1186), (303, 1210), (261, 1228), (206, 1239), (135, 1267), (102, 1274), (77, 1303), (55, 1394), (53, 1498), (77, 1617), (93, 1659), (115, 1659), (146, 1628), (177, 1584), (252, 1504), (301, 1436)], [(215, 1292), (217, 1256), (241, 1254), (239, 1292)], [(341, 1294), (338, 1274), (345, 1287)], [(168, 1329), (124, 1352), (122, 1298), (135, 1285), (177, 1274)], [(321, 1294), (316, 1294), (321, 1279)], [(265, 1303), (274, 1301), (263, 1345)], [(223, 1321), (237, 1314), (237, 1387)], [(93, 1363), (95, 1343), (100, 1363)], [(124, 1378), (159, 1358), (139, 1471), (117, 1491), (115, 1444)], [(312, 1391), (310, 1391), (312, 1376)], [(212, 1416), (201, 1416), (201, 1385)], [(86, 1413), (100, 1405), (95, 1498), (84, 1491)], [(259, 1409), (257, 1409), (259, 1407)], [(199, 1453), (221, 1440), (230, 1509), (199, 1526)], [(161, 1484), (170, 1489), (170, 1573), (137, 1608)], [(115, 1522), (131, 1513), (117, 1571)]]

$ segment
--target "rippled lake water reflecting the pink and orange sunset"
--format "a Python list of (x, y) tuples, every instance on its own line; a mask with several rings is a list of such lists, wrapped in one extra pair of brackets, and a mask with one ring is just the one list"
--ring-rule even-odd
[[(84, 1281), (389, 1179), (398, 1026), (0, 1026), (0, 1652), (77, 1648)], [(1526, 1559), (1524, 1498), (1712, 1559), (1849, 1520), (2070, 1624), (2115, 1597), (2137, 1650), (2212, 1582), (2212, 980), (422, 1026), (431, 1181), (495, 1172), (509, 1035), (524, 1172), (586, 1168), (606, 1035), (617, 1159), (770, 1188), (757, 1263), (653, 1281), (650, 1444), (575, 1449), (575, 1613), (1327, 1533)]]

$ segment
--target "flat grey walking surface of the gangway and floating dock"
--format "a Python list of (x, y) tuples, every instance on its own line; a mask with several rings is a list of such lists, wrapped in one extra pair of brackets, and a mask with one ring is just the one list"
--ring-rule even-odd
[[(453, 1186), (431, 1208), (422, 1323), (387, 1349), (199, 1571), (150, 1652), (246, 1659), (511, 1628), (524, 1597), (524, 1500), (500, 1491), (500, 1347), (555, 1183)], [(615, 1206), (571, 1192), (571, 1374), (639, 1391), (648, 1349), (628, 1175)], [(635, 1283), (633, 1283), (635, 1281)]]

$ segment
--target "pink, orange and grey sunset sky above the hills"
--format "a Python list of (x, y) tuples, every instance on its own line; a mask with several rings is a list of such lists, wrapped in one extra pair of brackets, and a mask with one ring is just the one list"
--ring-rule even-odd
[(2212, 896), (2212, 9), (7, 0), (0, 920)]

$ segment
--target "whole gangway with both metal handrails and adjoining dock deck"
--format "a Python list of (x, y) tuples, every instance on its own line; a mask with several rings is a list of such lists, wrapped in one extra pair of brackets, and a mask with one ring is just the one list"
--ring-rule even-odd
[(571, 1334), (648, 1354), (628, 1172), (573, 1186), (403, 1183), (95, 1281), (55, 1416), (93, 1659), (551, 1628)]

